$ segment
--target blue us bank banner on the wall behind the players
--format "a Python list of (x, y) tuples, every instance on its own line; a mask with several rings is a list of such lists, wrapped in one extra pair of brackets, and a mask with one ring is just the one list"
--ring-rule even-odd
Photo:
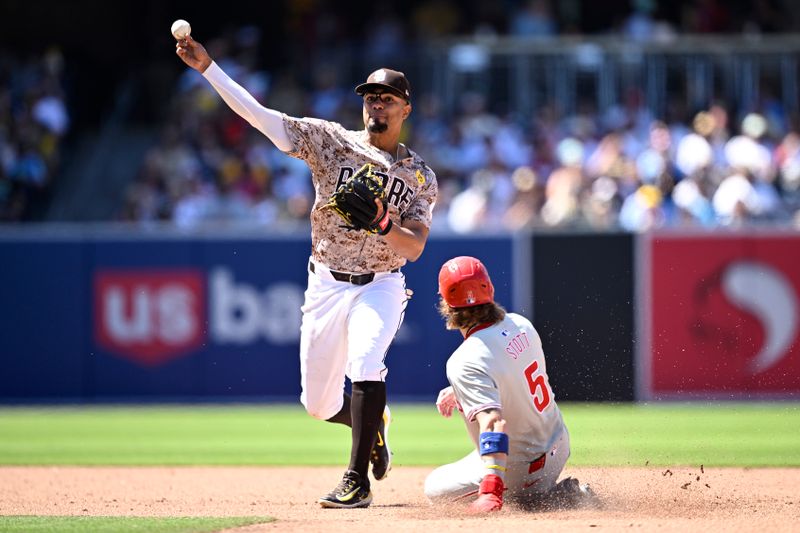
[[(0, 319), (13, 324), (0, 398), (297, 401), (309, 248), (305, 235), (0, 241)], [(437, 275), (456, 255), (484, 261), (499, 301), (520, 298), (509, 237), (432, 237), (403, 268), (413, 296), (387, 355), (396, 398), (434, 402), (447, 385), (461, 337), (438, 316)]]

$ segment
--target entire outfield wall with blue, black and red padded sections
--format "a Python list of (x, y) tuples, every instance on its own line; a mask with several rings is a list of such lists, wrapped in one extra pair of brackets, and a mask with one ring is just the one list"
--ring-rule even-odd
[[(0, 401), (296, 401), (307, 232), (0, 232)], [(436, 313), (455, 255), (539, 330), (561, 400), (800, 396), (796, 234), (434, 234), (389, 393), (433, 401), (460, 337)]]

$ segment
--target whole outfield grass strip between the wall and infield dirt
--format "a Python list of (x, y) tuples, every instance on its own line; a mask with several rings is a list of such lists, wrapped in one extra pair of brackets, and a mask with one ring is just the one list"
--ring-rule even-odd
[[(563, 404), (571, 465), (800, 466), (800, 405)], [(463, 423), (396, 404), (396, 465), (470, 450)], [(341, 465), (349, 430), (300, 406), (0, 409), (4, 465)], [(0, 528), (2, 529), (2, 528)]]

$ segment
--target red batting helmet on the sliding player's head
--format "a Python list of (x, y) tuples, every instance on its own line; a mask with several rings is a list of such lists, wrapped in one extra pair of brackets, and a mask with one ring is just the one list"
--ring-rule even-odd
[(439, 270), (439, 294), (450, 307), (472, 307), (494, 301), (494, 286), (486, 267), (462, 255)]

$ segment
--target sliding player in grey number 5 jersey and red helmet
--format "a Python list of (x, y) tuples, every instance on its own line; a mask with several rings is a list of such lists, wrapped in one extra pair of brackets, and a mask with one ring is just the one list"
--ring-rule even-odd
[(463, 414), (475, 450), (425, 480), (433, 502), (468, 500), (475, 513), (499, 511), (507, 499), (586, 494), (574, 478), (556, 485), (569, 457), (569, 433), (547, 379), (539, 334), (526, 318), (494, 302), (494, 286), (474, 257), (456, 257), (439, 272), (439, 311), (464, 342), (447, 361), (451, 386), (436, 407)]

